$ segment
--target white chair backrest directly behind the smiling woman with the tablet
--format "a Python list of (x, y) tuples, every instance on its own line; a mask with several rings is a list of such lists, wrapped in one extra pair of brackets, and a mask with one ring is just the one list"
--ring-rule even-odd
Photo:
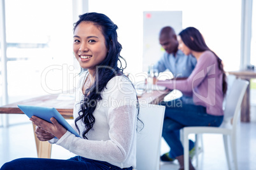
[(157, 170), (160, 166), (160, 142), (166, 107), (143, 105), (139, 107), (139, 118), (144, 128), (137, 133), (136, 170)]

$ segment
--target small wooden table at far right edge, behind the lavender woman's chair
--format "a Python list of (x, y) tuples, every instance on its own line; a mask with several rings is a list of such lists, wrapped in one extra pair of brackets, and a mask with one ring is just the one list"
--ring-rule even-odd
[(249, 81), (249, 85), (246, 89), (245, 96), (241, 105), (241, 122), (250, 122), (250, 79), (256, 78), (255, 70), (239, 70), (228, 72), (229, 74), (236, 75), (239, 79), (245, 79)]

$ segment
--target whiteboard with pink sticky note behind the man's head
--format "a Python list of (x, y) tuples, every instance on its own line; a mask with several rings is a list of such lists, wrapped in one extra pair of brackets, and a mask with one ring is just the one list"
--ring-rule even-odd
[(178, 34), (182, 30), (182, 11), (143, 11), (143, 71), (155, 64), (164, 53), (159, 44), (162, 27), (171, 26)]

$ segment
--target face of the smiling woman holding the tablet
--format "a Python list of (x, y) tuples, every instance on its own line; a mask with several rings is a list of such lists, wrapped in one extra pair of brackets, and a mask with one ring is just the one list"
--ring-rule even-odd
[(103, 62), (108, 53), (101, 30), (91, 22), (81, 22), (76, 27), (73, 51), (80, 66), (90, 73), (95, 72), (96, 66)]

